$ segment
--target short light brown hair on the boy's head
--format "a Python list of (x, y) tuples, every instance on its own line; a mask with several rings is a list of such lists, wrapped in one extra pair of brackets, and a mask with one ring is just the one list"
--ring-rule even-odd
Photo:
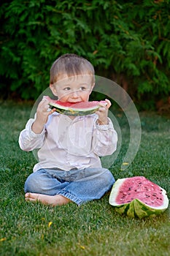
[(74, 53), (66, 53), (54, 61), (50, 68), (50, 84), (58, 81), (58, 76), (66, 74), (68, 77), (74, 75), (92, 75), (94, 82), (94, 68), (87, 59)]

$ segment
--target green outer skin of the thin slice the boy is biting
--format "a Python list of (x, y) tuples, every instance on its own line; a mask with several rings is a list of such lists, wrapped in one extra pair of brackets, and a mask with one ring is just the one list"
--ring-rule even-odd
[(58, 113), (61, 113), (63, 115), (66, 115), (66, 116), (87, 116), (87, 115), (91, 115), (93, 113), (96, 112), (96, 110), (99, 108), (95, 108), (95, 109), (91, 109), (91, 110), (73, 110), (72, 108), (69, 108), (68, 110), (65, 110), (65, 109), (62, 109), (62, 108), (57, 108), (55, 107), (54, 105), (50, 105), (50, 108), (53, 109), (55, 108), (55, 111), (58, 112)]

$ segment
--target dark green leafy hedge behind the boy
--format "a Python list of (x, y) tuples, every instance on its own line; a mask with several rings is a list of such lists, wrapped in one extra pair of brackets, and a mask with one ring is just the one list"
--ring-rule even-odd
[(170, 92), (169, 11), (169, 0), (1, 1), (1, 95), (35, 99), (69, 52), (153, 107)]

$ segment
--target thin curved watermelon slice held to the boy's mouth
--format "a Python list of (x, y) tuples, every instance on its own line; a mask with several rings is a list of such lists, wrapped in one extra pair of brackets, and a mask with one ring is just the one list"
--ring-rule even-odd
[(49, 102), (50, 108), (55, 108), (55, 111), (62, 113), (66, 116), (85, 116), (90, 115), (96, 112), (100, 108), (99, 103), (107, 102), (104, 100), (93, 101), (93, 102), (61, 102), (59, 100), (50, 99), (48, 96), (44, 96), (43, 99), (46, 99)]

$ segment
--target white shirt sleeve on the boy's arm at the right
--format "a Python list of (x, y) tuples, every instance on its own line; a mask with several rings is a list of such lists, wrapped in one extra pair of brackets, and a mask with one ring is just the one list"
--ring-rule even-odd
[(108, 118), (107, 125), (95, 123), (93, 131), (93, 150), (98, 157), (111, 155), (117, 148), (117, 132)]

